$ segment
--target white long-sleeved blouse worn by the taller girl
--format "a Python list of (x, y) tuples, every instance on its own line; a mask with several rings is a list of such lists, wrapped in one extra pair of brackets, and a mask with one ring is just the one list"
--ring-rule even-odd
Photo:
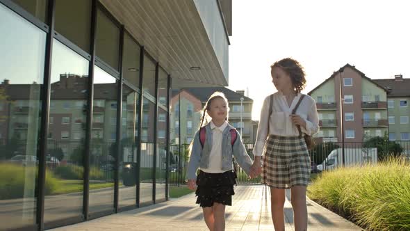
[[(277, 136), (299, 136), (297, 127), (293, 125), (292, 120), (290, 120), (290, 114), (295, 108), (301, 95), (301, 93), (297, 93), (297, 95), (293, 99), (292, 104), (288, 106), (286, 96), (284, 96), (281, 92), (274, 93), (272, 100), (272, 114), (270, 115), (269, 120), (268, 114), (270, 96), (265, 98), (261, 110), (261, 120), (259, 120), (258, 132), (256, 134), (256, 143), (253, 150), (253, 154), (255, 156), (262, 155), (268, 134)], [(304, 99), (297, 107), (296, 114), (304, 118), (304, 120), (306, 121), (306, 129), (304, 129), (304, 127), (301, 127), (302, 133), (313, 136), (313, 134), (319, 132), (319, 116), (318, 111), (316, 111), (315, 99), (313, 99), (309, 95), (305, 95)]]

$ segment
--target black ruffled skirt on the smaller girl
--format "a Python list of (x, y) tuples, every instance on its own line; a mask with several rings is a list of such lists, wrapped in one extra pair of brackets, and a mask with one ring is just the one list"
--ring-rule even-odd
[(224, 173), (205, 173), (199, 171), (197, 176), (197, 204), (201, 207), (211, 207), (213, 202), (232, 205), (233, 184), (236, 183), (236, 173), (228, 170)]

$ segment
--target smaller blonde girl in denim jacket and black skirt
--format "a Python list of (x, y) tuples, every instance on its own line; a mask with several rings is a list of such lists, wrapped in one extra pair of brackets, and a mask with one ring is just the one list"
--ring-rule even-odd
[[(229, 123), (228, 100), (223, 93), (213, 93), (204, 107), (201, 125), (206, 114), (211, 121), (205, 125), (205, 141), (201, 141), (200, 129), (192, 141), (188, 166), (188, 188), (197, 190), (197, 204), (202, 207), (209, 230), (224, 230), (225, 205), (232, 205), (235, 173), (232, 170), (232, 155), (239, 166), (250, 175), (252, 161), (245, 150), (238, 132)], [(233, 129), (233, 131), (231, 131)], [(231, 132), (236, 133), (234, 143)], [(196, 175), (197, 169), (199, 175)], [(254, 175), (254, 173), (252, 173)]]

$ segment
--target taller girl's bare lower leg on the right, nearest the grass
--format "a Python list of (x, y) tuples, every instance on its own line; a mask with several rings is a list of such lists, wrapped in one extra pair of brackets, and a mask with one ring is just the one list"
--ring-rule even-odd
[(293, 186), (291, 193), (295, 231), (305, 231), (307, 230), (306, 186)]

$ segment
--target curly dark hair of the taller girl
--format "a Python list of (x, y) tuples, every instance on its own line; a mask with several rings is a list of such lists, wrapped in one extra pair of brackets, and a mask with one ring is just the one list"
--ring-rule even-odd
[(293, 58), (284, 58), (276, 63), (273, 63), (271, 66), (280, 67), (286, 74), (289, 74), (290, 80), (292, 81), (293, 88), (297, 93), (300, 93), (306, 86), (306, 79), (304, 78), (304, 68), (298, 61), (295, 61)]

